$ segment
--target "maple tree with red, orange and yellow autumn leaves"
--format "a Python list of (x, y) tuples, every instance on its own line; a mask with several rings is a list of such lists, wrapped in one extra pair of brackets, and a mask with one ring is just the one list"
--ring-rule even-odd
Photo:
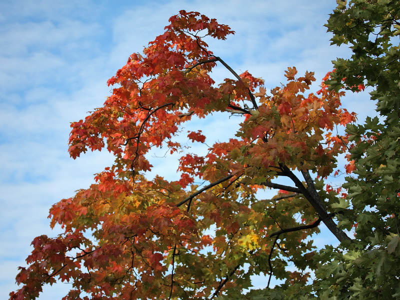
[[(89, 188), (51, 207), (51, 226), (64, 232), (32, 241), (29, 265), (16, 277), (23, 285), (10, 299), (34, 299), (43, 284), (57, 279), (71, 283), (64, 299), (313, 298), (330, 290), (318, 281), (320, 270), (330, 271), (329, 253), (339, 255), (337, 249), (315, 249), (310, 236), (320, 222), (339, 247), (359, 245), (343, 231), (357, 223), (356, 230), (365, 230), (354, 214), (359, 207), (349, 204), (357, 185), (350, 180), (344, 186), (349, 196), (325, 178), (337, 172), (343, 154), (347, 173), (359, 168), (355, 153), (376, 140), (355, 138), (351, 126), (336, 133), (355, 120), (340, 107), (341, 87), (362, 89), (362, 79), (337, 81), (337, 66), (317, 93), (306, 94), (313, 73), (297, 76), (289, 67), (287, 83), (267, 93), (262, 79), (237, 74), (208, 49), (204, 38), (225, 39), (233, 33), (227, 25), (184, 10), (169, 22), (108, 80), (113, 90), (104, 105), (71, 124), (71, 157), (106, 148), (114, 164)], [(217, 64), (232, 78), (216, 85), (211, 70)], [(191, 153), (174, 139), (185, 122), (216, 112), (236, 115), (240, 123), (228, 141)], [(187, 138), (206, 142), (201, 130)], [(152, 167), (146, 154), (161, 146), (181, 153), (179, 180), (146, 178)], [(288, 183), (276, 183), (278, 178)], [(267, 188), (276, 195), (260, 196)], [(266, 275), (267, 288), (243, 295), (253, 274)], [(270, 288), (272, 276), (284, 283)]]

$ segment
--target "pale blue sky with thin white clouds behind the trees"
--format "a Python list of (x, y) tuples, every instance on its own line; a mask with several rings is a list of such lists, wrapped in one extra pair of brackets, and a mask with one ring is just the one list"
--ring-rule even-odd
[[(329, 0), (1, 1), (0, 298), (16, 289), (17, 266), (24, 265), (31, 240), (57, 233), (48, 226), (49, 207), (87, 187), (92, 174), (112, 161), (106, 152), (69, 158), (69, 122), (103, 103), (110, 92), (106, 80), (129, 54), (163, 32), (169, 16), (196, 10), (230, 25), (236, 34), (210, 41), (210, 49), (272, 88), (284, 82), (288, 66), (299, 74), (315, 71), (318, 81), (332, 69), (331, 60), (348, 56), (348, 49), (329, 45), (323, 27), (334, 6)], [(223, 68), (213, 72), (217, 82), (225, 76)], [(360, 121), (374, 115), (366, 93), (348, 95), (342, 103)], [(215, 117), (193, 125), (224, 140), (234, 134), (234, 122)], [(176, 174), (160, 158), (153, 164), (153, 172)], [(331, 242), (328, 235), (318, 238)], [(39, 299), (60, 299), (67, 288), (46, 288)]]

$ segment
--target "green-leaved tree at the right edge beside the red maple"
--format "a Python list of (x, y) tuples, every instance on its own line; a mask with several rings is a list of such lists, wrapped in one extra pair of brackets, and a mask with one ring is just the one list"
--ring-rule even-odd
[(327, 83), (347, 89), (369, 86), (379, 117), (347, 125), (349, 139), (355, 141), (350, 153), (356, 177), (347, 177), (344, 184), (352, 210), (342, 215), (341, 223), (357, 224), (355, 239), (349, 247), (324, 254), (319, 288), (338, 299), (398, 299), (400, 2), (338, 2), (326, 26), (334, 34), (332, 43), (350, 44), (353, 53), (334, 61), (336, 70)]

